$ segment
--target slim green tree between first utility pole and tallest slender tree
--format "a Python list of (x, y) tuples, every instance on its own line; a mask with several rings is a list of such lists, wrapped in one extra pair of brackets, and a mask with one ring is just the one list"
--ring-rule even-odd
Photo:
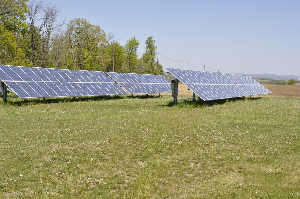
[(139, 47), (139, 40), (132, 37), (125, 44), (125, 55), (128, 73), (135, 73), (137, 71), (137, 48)]

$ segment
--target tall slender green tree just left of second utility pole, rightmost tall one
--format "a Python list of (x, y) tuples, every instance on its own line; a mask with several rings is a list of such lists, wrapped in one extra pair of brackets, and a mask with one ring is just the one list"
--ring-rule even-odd
[(148, 74), (155, 74), (155, 51), (157, 46), (155, 46), (155, 39), (153, 36), (150, 36), (146, 39), (146, 49), (145, 53), (142, 56), (143, 61), (145, 62), (147, 68), (146, 72)]

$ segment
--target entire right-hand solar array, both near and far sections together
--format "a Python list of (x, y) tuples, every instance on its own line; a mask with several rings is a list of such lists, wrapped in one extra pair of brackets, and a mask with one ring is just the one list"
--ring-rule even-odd
[(234, 80), (231, 80), (231, 76), (227, 77), (228, 74), (223, 73), (166, 69), (204, 101), (265, 94), (268, 91), (250, 76), (234, 76)]

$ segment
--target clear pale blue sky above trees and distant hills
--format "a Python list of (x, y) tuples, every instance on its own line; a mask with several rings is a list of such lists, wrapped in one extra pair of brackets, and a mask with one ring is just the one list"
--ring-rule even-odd
[[(300, 76), (299, 0), (49, 2), (59, 5), (61, 18), (85, 18), (121, 44), (136, 37), (140, 52), (151, 35), (158, 52), (174, 60), (229, 73)], [(184, 68), (184, 62), (159, 61)]]

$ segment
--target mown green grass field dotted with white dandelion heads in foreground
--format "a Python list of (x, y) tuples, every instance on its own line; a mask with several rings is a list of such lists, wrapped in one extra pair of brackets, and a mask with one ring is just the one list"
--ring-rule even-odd
[(1, 102), (0, 198), (300, 198), (300, 98), (171, 101)]

